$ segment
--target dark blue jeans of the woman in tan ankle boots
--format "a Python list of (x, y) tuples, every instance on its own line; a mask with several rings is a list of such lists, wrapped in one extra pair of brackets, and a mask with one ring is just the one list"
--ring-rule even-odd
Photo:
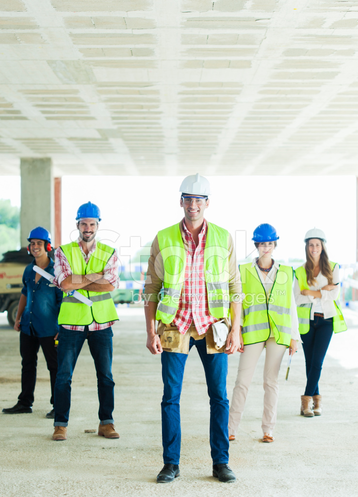
[(333, 318), (315, 316), (309, 322), (309, 331), (301, 335), (304, 358), (306, 360), (307, 384), (304, 395), (319, 395), (318, 381), (322, 364), (333, 333)]

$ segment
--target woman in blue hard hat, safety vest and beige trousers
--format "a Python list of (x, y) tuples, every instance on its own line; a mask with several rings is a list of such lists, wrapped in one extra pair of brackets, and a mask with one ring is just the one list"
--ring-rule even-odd
[(287, 347), (297, 350), (299, 339), (293, 298), (293, 269), (275, 262), (273, 251), (279, 239), (270, 224), (260, 224), (252, 240), (259, 255), (240, 264), (242, 292), (241, 352), (229, 412), (229, 440), (234, 440), (244, 411), (246, 396), (256, 365), (266, 346), (264, 366), (263, 442), (273, 442), (278, 404), (278, 375)]

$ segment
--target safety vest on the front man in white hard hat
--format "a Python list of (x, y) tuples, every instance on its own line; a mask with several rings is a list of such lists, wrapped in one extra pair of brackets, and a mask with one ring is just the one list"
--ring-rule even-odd
[[(158, 232), (158, 243), (163, 258), (163, 288), (156, 319), (165, 324), (173, 321), (185, 279), (186, 251), (180, 223)], [(218, 319), (229, 317), (229, 233), (208, 223), (204, 248), (204, 273), (208, 292), (209, 312)], [(191, 277), (191, 276), (190, 276)], [(205, 298), (205, 296), (203, 296)]]

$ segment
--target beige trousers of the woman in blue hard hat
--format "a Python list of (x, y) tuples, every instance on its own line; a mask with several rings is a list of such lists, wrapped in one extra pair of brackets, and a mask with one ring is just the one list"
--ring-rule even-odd
[(232, 392), (229, 411), (229, 435), (235, 435), (244, 411), (247, 392), (255, 373), (261, 352), (266, 344), (266, 358), (264, 366), (264, 414), (262, 416), (262, 431), (272, 433), (276, 424), (277, 404), (279, 401), (278, 376), (286, 345), (279, 345), (275, 338), (266, 342), (244, 345), (240, 354), (239, 368), (236, 383)]

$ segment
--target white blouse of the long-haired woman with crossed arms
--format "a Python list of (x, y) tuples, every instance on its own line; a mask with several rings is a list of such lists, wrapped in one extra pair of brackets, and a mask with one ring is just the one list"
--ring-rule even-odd
[[(305, 267), (306, 264), (302, 264), (302, 267)], [(300, 304), (311, 304), (311, 314), (310, 319), (314, 319), (314, 313), (320, 312), (323, 313), (324, 319), (333, 318), (336, 316), (336, 308), (334, 305), (334, 301), (338, 299), (339, 292), (341, 289), (340, 279), (339, 279), (339, 264), (336, 264), (333, 269), (333, 284), (336, 285), (333, 290), (322, 290), (323, 286), (328, 285), (328, 279), (326, 276), (323, 276), (321, 271), (316, 277), (315, 285), (309, 285), (310, 290), (320, 290), (322, 294), (322, 298), (315, 299), (312, 295), (301, 295), (301, 290), (298, 285), (297, 278), (294, 278), (294, 299), (296, 301), (297, 306)]]

